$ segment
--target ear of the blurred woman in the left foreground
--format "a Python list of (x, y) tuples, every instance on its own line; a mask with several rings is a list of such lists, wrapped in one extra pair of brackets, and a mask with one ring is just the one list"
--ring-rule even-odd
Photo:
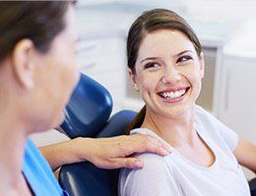
[(19, 41), (12, 54), (12, 69), (20, 86), (33, 87), (34, 65), (32, 62), (33, 43), (30, 39)]

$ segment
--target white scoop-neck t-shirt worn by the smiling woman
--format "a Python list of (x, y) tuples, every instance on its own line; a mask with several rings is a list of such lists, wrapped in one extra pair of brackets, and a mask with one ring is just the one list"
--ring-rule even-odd
[[(120, 196), (250, 195), (248, 183), (232, 153), (237, 145), (237, 134), (201, 107), (196, 106), (195, 112), (197, 132), (214, 152), (215, 163), (209, 168), (201, 167), (184, 158), (173, 147), (165, 157), (153, 153), (136, 155), (144, 161), (144, 168), (120, 172)], [(134, 133), (160, 139), (147, 128), (134, 129)]]

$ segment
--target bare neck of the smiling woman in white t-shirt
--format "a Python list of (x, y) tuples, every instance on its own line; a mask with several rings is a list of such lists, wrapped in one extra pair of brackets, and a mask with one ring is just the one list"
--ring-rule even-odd
[(147, 110), (142, 127), (150, 128), (173, 147), (193, 143), (197, 137), (193, 107), (179, 117), (165, 117)]

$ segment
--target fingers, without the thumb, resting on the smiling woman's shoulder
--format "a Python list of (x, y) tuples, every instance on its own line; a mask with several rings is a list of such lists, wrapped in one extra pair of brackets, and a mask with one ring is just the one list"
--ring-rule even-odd
[(170, 147), (167, 144), (152, 136), (134, 134), (129, 137), (133, 140), (133, 145), (130, 145), (129, 147), (127, 146), (127, 150), (130, 150), (130, 154), (152, 152), (157, 153), (160, 156), (166, 156), (171, 152)]

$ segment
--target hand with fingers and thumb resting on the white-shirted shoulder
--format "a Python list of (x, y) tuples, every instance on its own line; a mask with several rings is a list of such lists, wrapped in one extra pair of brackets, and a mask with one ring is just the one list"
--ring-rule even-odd
[(170, 153), (166, 144), (142, 134), (77, 139), (81, 161), (88, 160), (103, 169), (142, 168), (142, 160), (129, 157), (134, 153), (152, 152), (160, 156)]

